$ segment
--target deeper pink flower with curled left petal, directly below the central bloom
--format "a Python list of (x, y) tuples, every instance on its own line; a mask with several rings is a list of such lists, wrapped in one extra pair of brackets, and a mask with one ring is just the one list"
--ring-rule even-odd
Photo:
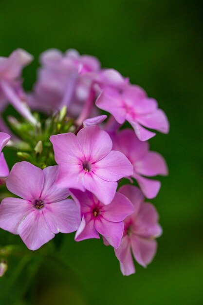
[(116, 193), (111, 203), (104, 205), (89, 191), (70, 191), (80, 205), (82, 217), (75, 240), (100, 238), (100, 233), (112, 247), (118, 248), (123, 236), (123, 220), (134, 210), (129, 199)]

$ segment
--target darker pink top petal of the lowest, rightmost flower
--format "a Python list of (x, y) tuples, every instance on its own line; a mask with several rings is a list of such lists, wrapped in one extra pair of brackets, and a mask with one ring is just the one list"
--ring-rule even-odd
[(137, 215), (140, 210), (140, 206), (143, 203), (145, 197), (143, 193), (135, 186), (126, 184), (119, 189), (119, 193), (125, 195), (134, 206), (133, 215)]

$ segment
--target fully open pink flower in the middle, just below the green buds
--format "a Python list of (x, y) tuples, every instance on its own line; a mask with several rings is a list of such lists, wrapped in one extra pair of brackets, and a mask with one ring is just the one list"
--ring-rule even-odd
[(50, 138), (59, 165), (57, 184), (63, 188), (91, 191), (101, 202), (109, 204), (117, 182), (132, 175), (133, 168), (122, 152), (111, 151), (109, 134), (98, 126)]

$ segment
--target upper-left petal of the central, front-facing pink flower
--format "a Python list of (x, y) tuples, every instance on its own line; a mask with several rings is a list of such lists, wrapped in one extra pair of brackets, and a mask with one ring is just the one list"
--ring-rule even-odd
[(78, 163), (78, 160), (84, 159), (82, 148), (76, 139), (74, 133), (61, 133), (52, 135), (50, 141), (53, 144), (55, 161)]

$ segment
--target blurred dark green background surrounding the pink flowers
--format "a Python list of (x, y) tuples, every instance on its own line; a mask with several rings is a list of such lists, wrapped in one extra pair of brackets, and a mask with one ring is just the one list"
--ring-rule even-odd
[[(171, 125), (168, 135), (150, 141), (169, 167), (152, 200), (164, 229), (152, 264), (147, 269), (136, 264), (136, 274), (123, 277), (113, 249), (102, 240), (76, 243), (68, 234), (60, 262), (51, 255), (43, 261), (24, 255), (9, 260), (0, 279), (0, 304), (203, 304), (201, 1), (1, 0), (0, 29), (0, 56), (18, 47), (35, 56), (24, 71), (27, 90), (42, 51), (75, 48), (144, 87)], [(0, 231), (1, 246), (16, 241), (21, 244), (18, 236)]]

